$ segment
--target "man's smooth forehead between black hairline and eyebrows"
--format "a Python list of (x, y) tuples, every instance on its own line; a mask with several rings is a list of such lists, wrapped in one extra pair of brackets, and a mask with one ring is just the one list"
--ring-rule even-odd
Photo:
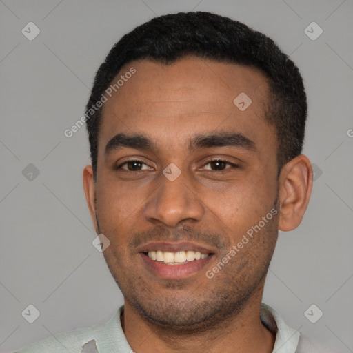
[[(125, 77), (130, 68), (136, 72)], [(121, 132), (164, 139), (170, 148), (194, 132), (233, 130), (254, 140), (273, 132), (265, 121), (268, 81), (255, 68), (195, 57), (170, 65), (141, 60), (112, 84), (119, 78), (123, 85), (103, 105), (99, 148)]]

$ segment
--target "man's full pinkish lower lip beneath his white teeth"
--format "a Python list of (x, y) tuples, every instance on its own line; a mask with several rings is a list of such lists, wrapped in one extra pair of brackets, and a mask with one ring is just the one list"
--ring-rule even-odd
[(148, 270), (163, 279), (181, 279), (191, 276), (201, 271), (212, 258), (212, 255), (209, 255), (205, 259), (194, 260), (188, 263), (182, 263), (181, 265), (166, 265), (163, 262), (150, 259), (148, 255), (143, 252), (140, 252), (140, 254)]

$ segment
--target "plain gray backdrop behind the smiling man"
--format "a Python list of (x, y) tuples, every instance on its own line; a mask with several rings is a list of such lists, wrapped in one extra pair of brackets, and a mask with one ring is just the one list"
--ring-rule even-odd
[[(352, 0), (0, 1), (0, 352), (106, 321), (123, 303), (92, 246), (85, 127), (70, 139), (63, 132), (125, 32), (188, 10), (243, 21), (299, 65), (309, 100), (304, 153), (316, 181), (303, 223), (279, 236), (263, 301), (295, 329), (353, 352)], [(32, 41), (21, 33), (30, 21), (41, 30)], [(315, 41), (304, 32), (312, 21), (323, 29)], [(22, 172), (30, 163), (39, 170), (32, 180)], [(21, 316), (29, 304), (41, 313), (32, 324)], [(323, 312), (316, 323), (304, 315), (312, 304)]]

